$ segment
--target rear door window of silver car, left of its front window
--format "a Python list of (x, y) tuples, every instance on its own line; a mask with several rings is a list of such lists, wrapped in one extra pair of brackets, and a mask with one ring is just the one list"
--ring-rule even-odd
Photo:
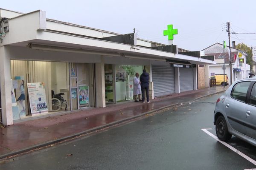
[(250, 86), (250, 82), (239, 82), (234, 85), (231, 96), (234, 99), (240, 100), (241, 102), (245, 102), (246, 94), (248, 91), (248, 88)]

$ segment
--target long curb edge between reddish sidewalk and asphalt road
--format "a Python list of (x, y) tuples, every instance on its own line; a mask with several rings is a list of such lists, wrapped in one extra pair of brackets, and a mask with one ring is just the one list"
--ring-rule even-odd
[[(193, 100), (191, 100), (189, 102), (195, 102), (198, 99), (204, 98), (206, 96), (222, 93), (222, 92), (224, 92), (226, 90), (227, 89), (222, 90), (222, 91), (218, 91), (218, 92), (214, 92), (214, 93), (211, 93), (211, 94), (207, 94), (207, 95), (204, 95), (204, 96), (200, 96), (200, 97), (197, 97), (197, 98), (195, 98), (195, 99), (193, 99)], [(185, 104), (187, 104), (189, 102), (185, 102)], [(6, 159), (9, 156), (14, 156), (14, 155), (17, 155), (17, 154), (26, 153), (26, 152), (29, 152), (30, 150), (34, 150), (34, 149), (37, 149), (37, 148), (40, 148), (40, 147), (46, 147), (46, 146), (49, 146), (51, 144), (55, 144), (55, 143), (58, 143), (58, 142), (63, 142), (63, 141), (68, 140), (68, 139), (73, 139), (73, 138), (76, 138), (76, 137), (81, 136), (81, 135), (86, 135), (88, 133), (92, 133), (92, 132), (95, 132), (97, 130), (102, 130), (102, 129), (106, 128), (106, 127), (111, 127), (111, 126), (114, 126), (114, 125), (118, 125), (120, 123), (130, 121), (132, 119), (137, 119), (137, 118), (142, 117), (142, 116), (144, 116), (146, 114), (157, 112), (157, 111), (161, 111), (163, 109), (166, 109), (166, 108), (169, 108), (169, 107), (172, 107), (172, 106), (175, 106), (175, 105), (179, 105), (179, 104), (180, 103), (174, 103), (172, 105), (166, 105), (166, 106), (164, 106), (162, 108), (154, 109), (152, 111), (144, 112), (144, 113), (138, 114), (136, 116), (128, 117), (128, 118), (125, 118), (125, 119), (122, 119), (122, 120), (118, 120), (118, 121), (115, 121), (115, 122), (108, 123), (106, 125), (102, 125), (102, 126), (98, 126), (98, 127), (94, 127), (94, 128), (88, 129), (88, 130), (84, 130), (82, 132), (75, 133), (75, 134), (70, 135), (70, 136), (65, 136), (65, 137), (62, 137), (62, 138), (59, 138), (59, 139), (50, 140), (50, 141), (43, 142), (43, 143), (40, 143), (40, 144), (35, 144), (35, 145), (29, 146), (29, 147), (25, 147), (25, 148), (23, 148), (21, 150), (17, 150), (17, 151), (11, 152), (11, 153), (3, 154), (3, 155), (0, 155), (0, 161), (2, 159)]]

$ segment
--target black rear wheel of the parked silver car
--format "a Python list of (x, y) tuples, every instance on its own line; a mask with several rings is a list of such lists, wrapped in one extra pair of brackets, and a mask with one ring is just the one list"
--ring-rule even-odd
[(227, 122), (224, 116), (219, 116), (216, 121), (215, 131), (218, 139), (221, 141), (228, 141), (232, 135), (227, 131)]

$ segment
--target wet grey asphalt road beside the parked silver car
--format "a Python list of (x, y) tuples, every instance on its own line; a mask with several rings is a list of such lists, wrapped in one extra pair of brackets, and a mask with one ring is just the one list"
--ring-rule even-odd
[[(0, 170), (244, 170), (256, 166), (217, 142), (217, 95), (71, 142), (0, 162)], [(177, 108), (177, 109), (176, 109)], [(256, 148), (230, 145), (256, 160)], [(72, 154), (72, 156), (71, 156)]]

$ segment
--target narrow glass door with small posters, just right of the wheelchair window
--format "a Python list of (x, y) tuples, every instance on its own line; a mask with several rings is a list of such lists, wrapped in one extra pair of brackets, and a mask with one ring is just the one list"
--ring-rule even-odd
[(70, 63), (70, 105), (71, 111), (78, 110), (78, 85), (76, 63)]

